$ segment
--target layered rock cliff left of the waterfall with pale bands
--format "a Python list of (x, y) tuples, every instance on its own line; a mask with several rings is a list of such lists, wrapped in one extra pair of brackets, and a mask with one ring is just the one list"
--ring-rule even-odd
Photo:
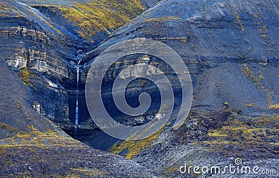
[(2, 1), (1, 9), (1, 61), (23, 72), (22, 79), (37, 95), (36, 102), (47, 117), (70, 122), (68, 94), (61, 81), (70, 80), (69, 61), (76, 52), (67, 40), (75, 38), (38, 10), (17, 1)]

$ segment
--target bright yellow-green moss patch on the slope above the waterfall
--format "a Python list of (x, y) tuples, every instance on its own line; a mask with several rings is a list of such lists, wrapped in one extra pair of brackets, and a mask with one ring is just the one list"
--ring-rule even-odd
[(90, 3), (75, 3), (73, 7), (59, 7), (63, 16), (80, 27), (79, 34), (86, 39), (126, 24), (145, 10), (140, 0), (107, 1), (93, 0)]

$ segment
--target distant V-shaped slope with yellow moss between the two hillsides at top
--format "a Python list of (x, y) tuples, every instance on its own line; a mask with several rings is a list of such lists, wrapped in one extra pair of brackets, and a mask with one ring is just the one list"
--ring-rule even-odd
[[(32, 1), (20, 0), (40, 10), (52, 22), (78, 33), (94, 46), (108, 34), (140, 15), (158, 0), (149, 1)], [(87, 48), (87, 50), (89, 50)]]

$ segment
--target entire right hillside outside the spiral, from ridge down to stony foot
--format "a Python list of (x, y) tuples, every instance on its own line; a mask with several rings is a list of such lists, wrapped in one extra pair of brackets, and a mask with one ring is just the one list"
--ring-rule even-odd
[(179, 176), (187, 161), (219, 165), (237, 157), (248, 165), (275, 168), (278, 7), (278, 1), (162, 1), (89, 52), (84, 58), (88, 67), (120, 41), (159, 40), (178, 52), (193, 80), (193, 107), (178, 131), (118, 143), (111, 151), (128, 158), (138, 154), (135, 161), (167, 176)]

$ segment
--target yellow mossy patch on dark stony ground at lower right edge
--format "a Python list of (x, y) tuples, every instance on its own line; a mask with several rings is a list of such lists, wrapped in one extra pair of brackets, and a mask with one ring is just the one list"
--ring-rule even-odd
[[(273, 126), (270, 128), (270, 126)], [(205, 144), (275, 144), (273, 138), (279, 132), (278, 115), (263, 114), (261, 117), (234, 119), (228, 126), (214, 128), (206, 135)], [(272, 133), (272, 134), (271, 134)]]

